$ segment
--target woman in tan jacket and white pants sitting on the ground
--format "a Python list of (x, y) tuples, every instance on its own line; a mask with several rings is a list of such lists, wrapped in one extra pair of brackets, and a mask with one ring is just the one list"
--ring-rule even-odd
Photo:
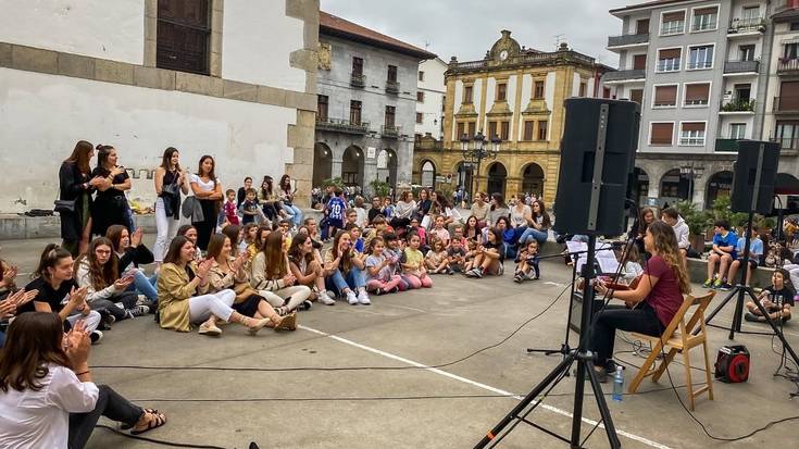
[(161, 327), (190, 332), (192, 324), (201, 323), (200, 335), (219, 336), (222, 329), (216, 326), (217, 320), (241, 324), (250, 334), (267, 325), (270, 320), (244, 316), (230, 308), (236, 300), (234, 290), (207, 292), (212, 264), (208, 259), (195, 263), (195, 246), (186, 237), (177, 236), (172, 240), (158, 277)]

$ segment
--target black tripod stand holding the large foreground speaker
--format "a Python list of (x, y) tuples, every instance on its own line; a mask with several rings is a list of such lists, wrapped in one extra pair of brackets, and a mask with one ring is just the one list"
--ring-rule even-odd
[[(594, 298), (594, 278), (596, 277), (596, 273), (594, 270), (594, 262), (595, 262), (595, 249), (596, 249), (596, 242), (597, 238), (596, 236), (589, 236), (588, 238), (588, 253), (586, 257), (586, 264), (583, 265), (583, 277), (585, 277), (585, 284), (583, 288), (583, 295), (585, 298)], [(576, 269), (575, 269), (576, 270)], [(533, 427), (536, 427), (548, 435), (551, 435), (562, 441), (565, 441), (571, 445), (572, 448), (580, 448), (583, 447), (583, 442), (580, 441), (580, 425), (583, 423), (583, 394), (585, 390), (585, 377), (588, 376), (588, 381), (590, 381), (591, 384), (591, 390), (594, 391), (594, 397), (597, 401), (597, 406), (599, 407), (599, 414), (602, 416), (601, 422), (604, 424), (606, 433), (608, 434), (608, 440), (610, 442), (611, 448), (620, 448), (622, 446), (621, 441), (619, 440), (619, 436), (616, 436), (615, 426), (613, 425), (613, 420), (610, 414), (610, 409), (608, 409), (608, 402), (604, 400), (604, 395), (602, 391), (602, 386), (599, 383), (599, 379), (597, 378), (597, 373), (594, 370), (594, 353), (591, 353), (588, 350), (588, 340), (590, 338), (590, 322), (591, 322), (591, 307), (592, 307), (592, 300), (585, 300), (583, 303), (583, 312), (580, 315), (580, 336), (579, 336), (579, 344), (576, 349), (569, 349), (567, 342), (565, 346), (565, 349), (567, 350), (567, 353), (563, 358), (563, 360), (555, 366), (547, 376), (538, 384), (536, 385), (533, 390), (527, 394), (527, 396), (522, 399), (521, 402), (516, 407), (513, 408), (513, 410), (510, 411), (500, 422), (497, 424), (491, 431), (489, 431), (486, 436), (475, 446), (475, 448), (485, 448), (488, 447), (488, 445), (496, 445), (502, 438), (504, 438), (510, 431), (513, 428), (511, 427), (508, 429), (508, 432), (504, 432), (509, 424), (511, 424), (513, 421), (521, 421), (526, 424), (532, 425)], [(554, 351), (559, 352), (559, 351)], [(564, 436), (558, 435), (555, 432), (550, 431), (539, 424), (536, 424), (529, 420), (527, 420), (527, 415), (532, 413), (541, 402), (536, 401), (538, 396), (544, 392), (545, 390), (549, 391), (552, 388), (554, 388), (562, 379), (565, 377), (571, 370), (571, 366), (573, 363), (577, 362), (577, 378), (575, 381), (575, 391), (574, 391), (574, 411), (573, 411), (573, 419), (572, 419), (572, 435), (571, 438), (566, 438)], [(532, 404), (532, 406), (530, 406)], [(529, 407), (529, 410), (525, 412), (525, 409)], [(524, 412), (524, 413), (523, 413)]]

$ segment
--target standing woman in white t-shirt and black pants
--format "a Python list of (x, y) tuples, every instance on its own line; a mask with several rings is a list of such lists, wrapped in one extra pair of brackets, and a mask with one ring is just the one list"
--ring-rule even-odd
[(216, 228), (216, 215), (222, 202), (222, 184), (214, 174), (216, 163), (208, 154), (200, 158), (197, 173), (191, 175), (191, 191), (200, 200), (202, 222), (191, 223), (197, 228), (197, 247), (205, 251), (211, 234)]

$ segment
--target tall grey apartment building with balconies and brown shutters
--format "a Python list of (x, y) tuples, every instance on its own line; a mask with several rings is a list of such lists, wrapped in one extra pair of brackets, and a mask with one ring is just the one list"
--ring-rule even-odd
[[(633, 187), (640, 203), (709, 207), (731, 191), (737, 141), (774, 137), (766, 117), (778, 97), (776, 7), (659, 0), (611, 11), (622, 20), (622, 35), (608, 39), (620, 70), (602, 83), (612, 97), (641, 104)], [(781, 171), (789, 155), (783, 152)]]

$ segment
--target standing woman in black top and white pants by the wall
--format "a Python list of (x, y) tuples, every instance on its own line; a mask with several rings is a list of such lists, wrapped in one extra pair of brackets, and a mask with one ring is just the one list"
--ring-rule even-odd
[(153, 255), (155, 263), (161, 265), (166, 253), (166, 247), (180, 225), (180, 191), (188, 195), (189, 186), (186, 183), (186, 174), (180, 170), (178, 163), (179, 152), (170, 147), (164, 150), (161, 166), (155, 169), (155, 248)]

